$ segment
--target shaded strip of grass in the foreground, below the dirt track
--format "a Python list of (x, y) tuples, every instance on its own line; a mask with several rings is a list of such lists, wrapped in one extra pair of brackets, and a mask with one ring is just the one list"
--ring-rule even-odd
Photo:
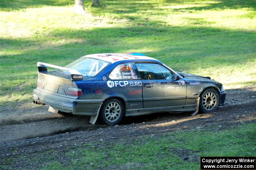
[[(10, 167), (13, 159), (27, 161), (25, 165), (38, 162), (42, 169), (200, 169), (200, 156), (255, 156), (255, 126), (251, 123), (222, 131), (209, 127), (162, 133), (158, 137), (137, 136), (115, 139), (112, 144), (103, 140), (67, 148), (61, 153), (50, 150), (26, 158), (8, 158), (2, 160), (2, 165)], [(67, 161), (60, 162), (62, 158)]]

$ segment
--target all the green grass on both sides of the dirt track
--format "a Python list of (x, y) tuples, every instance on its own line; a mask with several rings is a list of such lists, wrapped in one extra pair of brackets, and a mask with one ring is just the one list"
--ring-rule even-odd
[[(1, 110), (30, 108), (38, 61), (64, 66), (93, 53), (141, 52), (174, 70), (210, 76), (224, 88), (255, 85), (254, 0), (86, 2), (86, 15), (78, 15), (73, 0), (0, 1)], [(19, 155), (3, 158), (2, 169), (16, 160), (49, 162), (42, 169), (199, 169), (201, 155), (255, 156), (255, 125), (77, 145), (61, 153), (71, 160), (66, 164), (56, 150)]]

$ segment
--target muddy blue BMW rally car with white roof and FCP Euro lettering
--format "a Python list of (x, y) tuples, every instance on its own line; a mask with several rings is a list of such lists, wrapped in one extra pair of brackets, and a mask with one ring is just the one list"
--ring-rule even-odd
[(91, 116), (92, 124), (99, 118), (115, 125), (124, 116), (154, 112), (207, 113), (226, 98), (220, 82), (176, 72), (141, 53), (92, 54), (65, 67), (37, 66), (34, 103), (49, 105), (50, 112)]

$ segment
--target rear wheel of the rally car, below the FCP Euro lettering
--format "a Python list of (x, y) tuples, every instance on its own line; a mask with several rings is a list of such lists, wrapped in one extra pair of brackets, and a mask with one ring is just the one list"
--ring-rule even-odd
[(122, 121), (123, 116), (124, 105), (120, 100), (115, 98), (106, 100), (102, 104), (99, 112), (99, 120), (101, 123), (111, 126), (119, 124)]

